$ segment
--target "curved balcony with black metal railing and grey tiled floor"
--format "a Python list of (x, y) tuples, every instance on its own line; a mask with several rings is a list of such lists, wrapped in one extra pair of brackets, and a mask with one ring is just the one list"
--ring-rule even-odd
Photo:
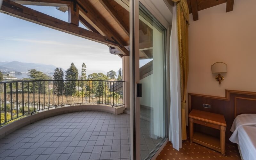
[[(1, 82), (0, 158), (130, 159), (124, 85), (100, 80)], [(150, 137), (147, 118), (141, 117), (140, 127), (144, 159), (159, 139)]]

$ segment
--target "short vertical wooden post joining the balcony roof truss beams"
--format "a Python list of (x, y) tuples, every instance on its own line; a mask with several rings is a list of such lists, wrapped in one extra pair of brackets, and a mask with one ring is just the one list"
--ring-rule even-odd
[(77, 4), (72, 2), (68, 6), (68, 22), (78, 26), (79, 25), (79, 18), (78, 18), (78, 16), (79, 16), (79, 12), (78, 12)]

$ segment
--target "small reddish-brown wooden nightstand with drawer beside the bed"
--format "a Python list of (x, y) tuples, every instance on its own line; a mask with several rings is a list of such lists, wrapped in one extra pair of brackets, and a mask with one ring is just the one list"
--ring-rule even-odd
[[(223, 115), (204, 112), (200, 110), (193, 109), (189, 115), (189, 134), (190, 142), (195, 142), (205, 147), (211, 148), (221, 153), (221, 155), (226, 155), (226, 120)], [(220, 130), (220, 139), (200, 133), (194, 132), (193, 124), (200, 124), (207, 127), (215, 128)]]

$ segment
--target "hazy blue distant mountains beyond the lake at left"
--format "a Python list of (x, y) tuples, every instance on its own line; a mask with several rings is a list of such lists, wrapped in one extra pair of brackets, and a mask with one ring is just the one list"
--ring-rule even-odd
[[(36, 69), (42, 72), (54, 72), (56, 66), (46, 65), (40, 63), (24, 63), (19, 61), (12, 62), (0, 62), (0, 69), (7, 71), (17, 71), (17, 72), (28, 72), (30, 69)], [(65, 71), (63, 69), (63, 71)]]

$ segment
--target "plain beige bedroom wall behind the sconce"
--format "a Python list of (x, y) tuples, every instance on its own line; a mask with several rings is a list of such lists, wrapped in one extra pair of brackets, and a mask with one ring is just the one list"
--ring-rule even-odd
[[(189, 26), (188, 93), (225, 96), (225, 89), (256, 92), (256, 1), (235, 0), (199, 11)], [(211, 73), (215, 62), (227, 64), (221, 85)]]

